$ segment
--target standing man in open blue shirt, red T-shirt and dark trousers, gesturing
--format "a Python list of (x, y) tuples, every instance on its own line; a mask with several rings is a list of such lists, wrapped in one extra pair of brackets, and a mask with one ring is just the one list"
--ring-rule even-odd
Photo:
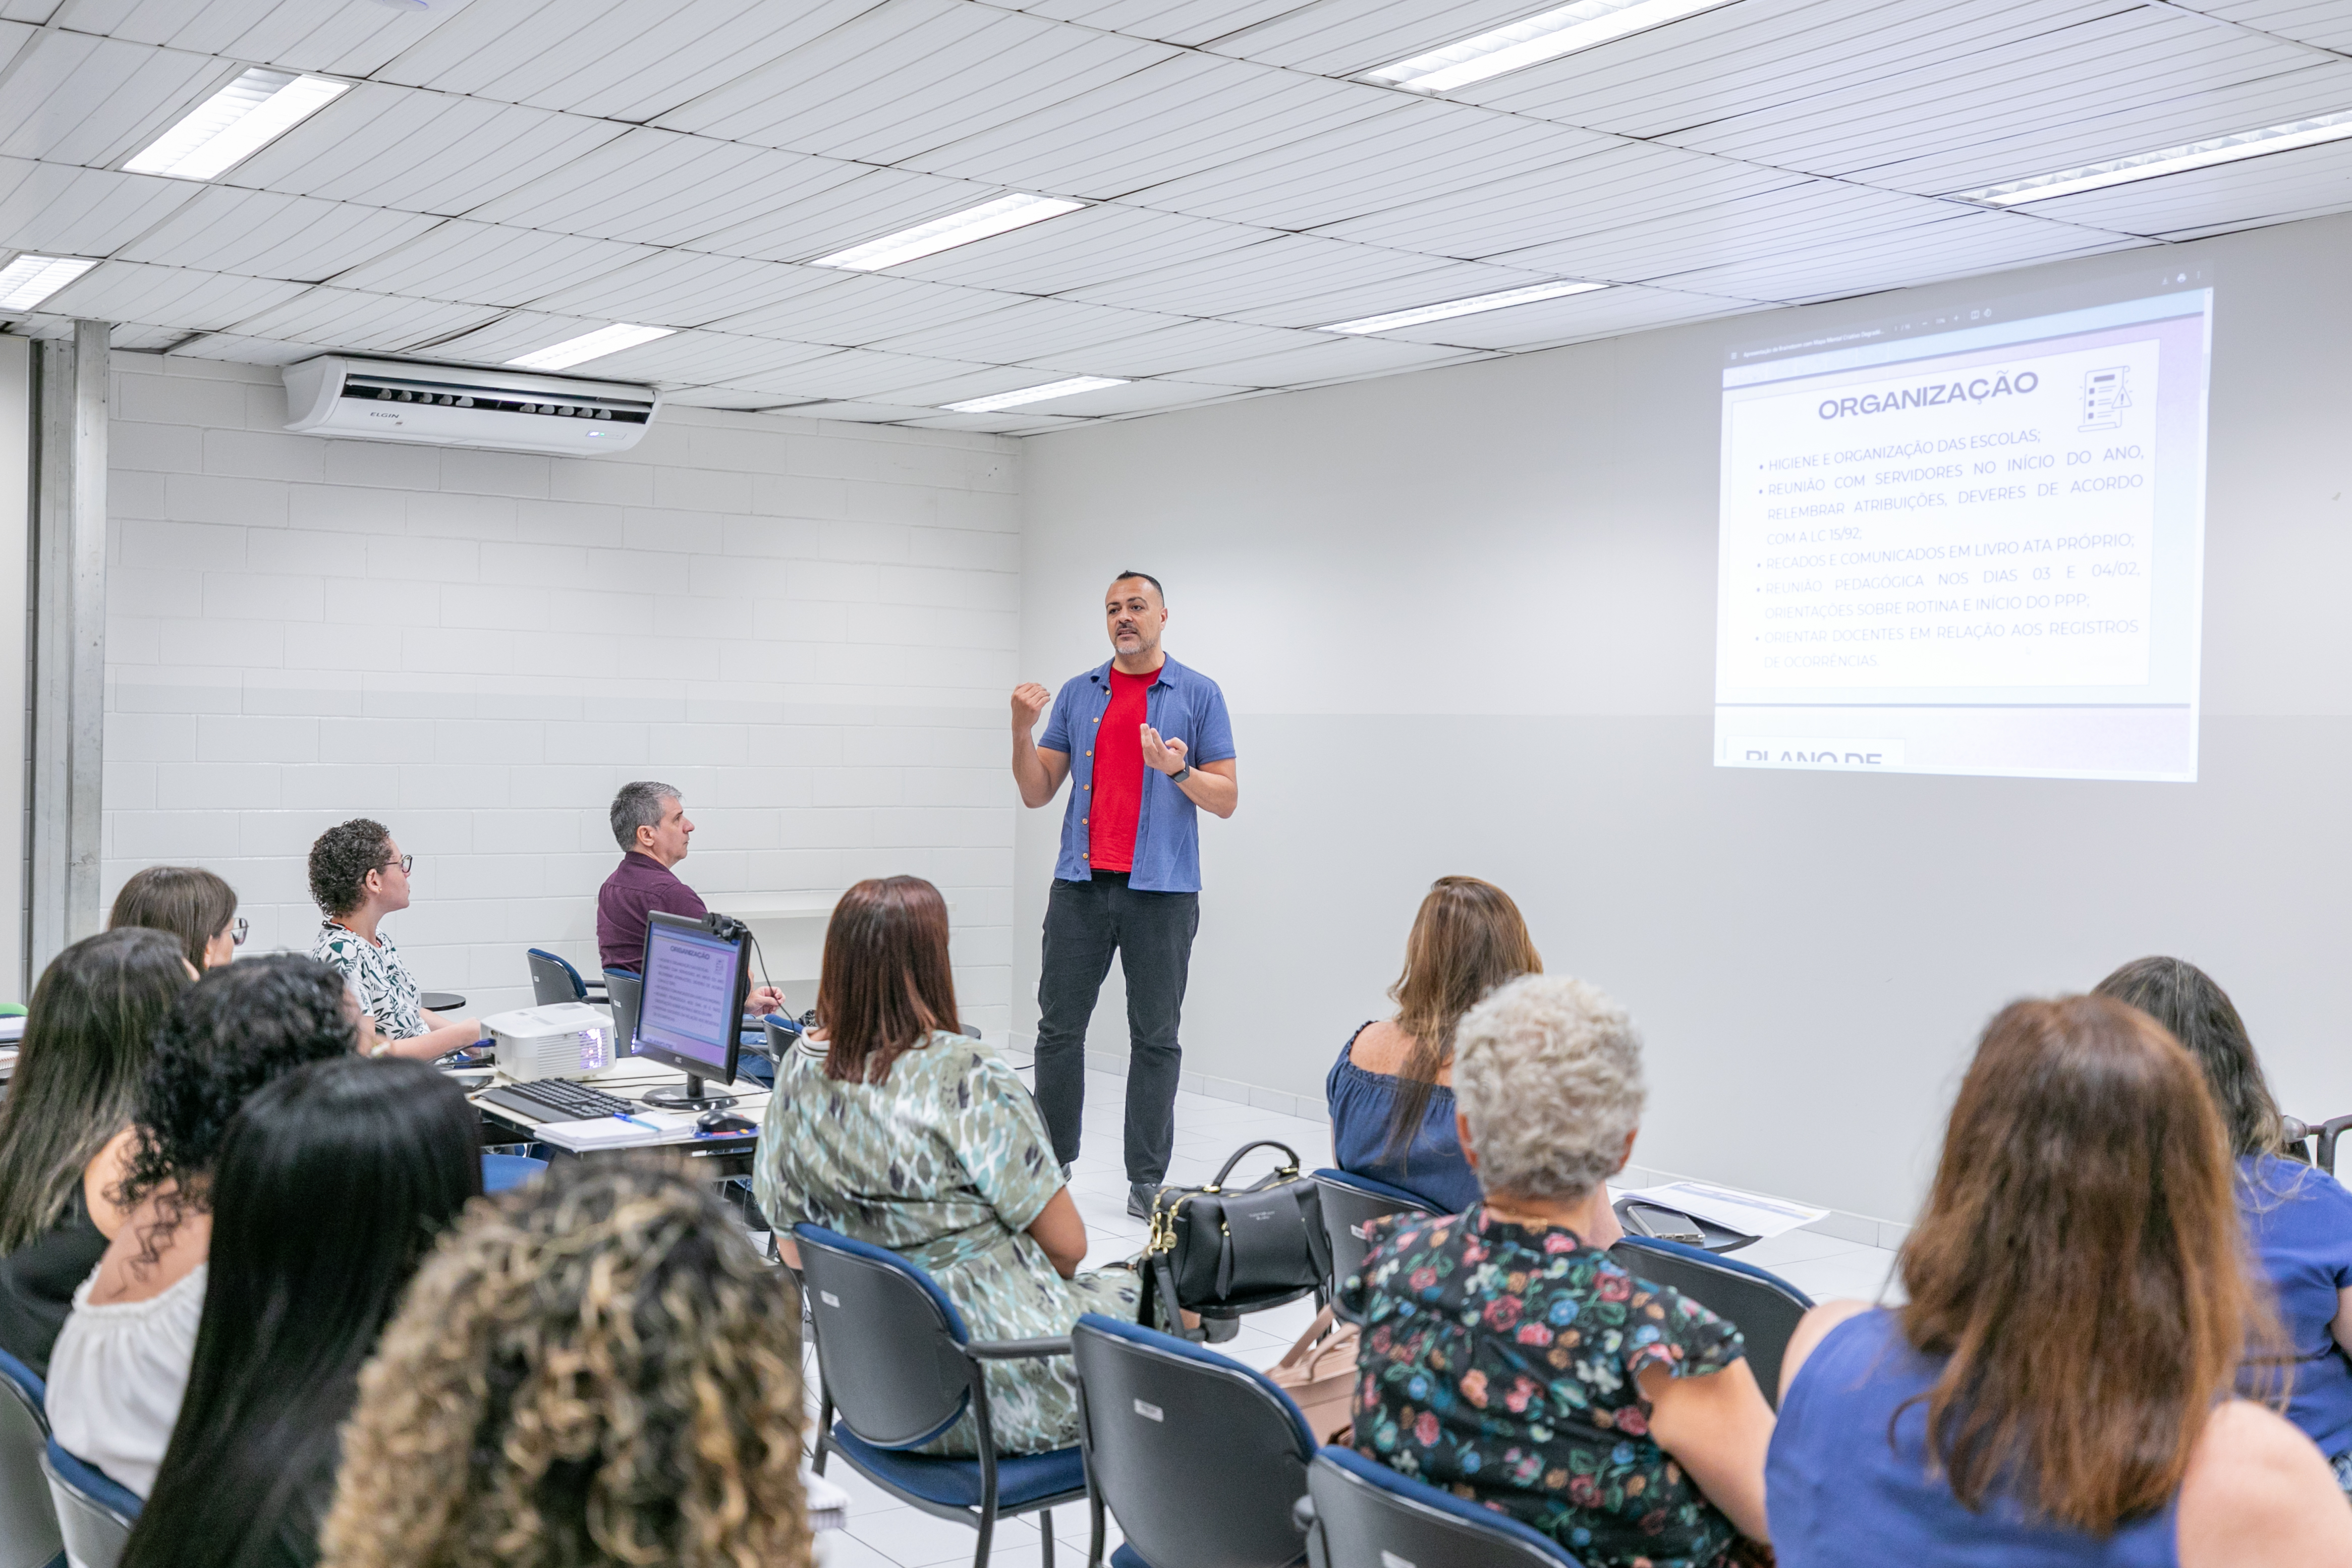
[[(1122, 571), (1103, 599), (1110, 663), (1049, 696), (1014, 689), (1014, 783), (1042, 806), (1070, 778), (1037, 976), (1037, 1110), (1054, 1159), (1077, 1159), (1087, 1023), (1120, 954), (1127, 976), (1127, 1213), (1148, 1215), (1176, 1143), (1176, 1074), (1192, 931), (1200, 811), (1232, 816), (1240, 785), (1225, 693), (1160, 651), (1160, 578)], [(1037, 715), (1054, 703), (1042, 741)]]

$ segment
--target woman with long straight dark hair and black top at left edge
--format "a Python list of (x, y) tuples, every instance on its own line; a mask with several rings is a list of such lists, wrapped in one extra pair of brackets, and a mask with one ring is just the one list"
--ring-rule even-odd
[(85, 936), (33, 987), (0, 1100), (0, 1349), (49, 1375), (73, 1288), (122, 1229), (115, 1182), (132, 1145), (155, 1025), (195, 971), (162, 931)]

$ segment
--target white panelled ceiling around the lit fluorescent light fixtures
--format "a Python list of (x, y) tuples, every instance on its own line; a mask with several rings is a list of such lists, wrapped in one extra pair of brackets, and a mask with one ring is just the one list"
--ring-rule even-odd
[[(263, 364), (637, 322), (579, 374), (1035, 433), (2352, 209), (2352, 139), (1952, 200), (2352, 110), (2343, 0), (1724, 0), (1442, 96), (1357, 80), (1541, 9), (0, 0), (0, 247), (101, 263), (5, 320)], [(120, 172), (247, 66), (353, 89), (214, 181)], [(1087, 205), (809, 266), (1011, 190)], [(1611, 287), (1317, 331), (1552, 280)], [(1070, 376), (1122, 386), (941, 407)]]

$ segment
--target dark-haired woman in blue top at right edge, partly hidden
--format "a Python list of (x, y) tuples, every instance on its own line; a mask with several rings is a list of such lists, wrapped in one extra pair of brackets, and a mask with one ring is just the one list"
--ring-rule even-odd
[(2183, 959), (2133, 959), (2098, 983), (2173, 1032), (2204, 1070), (2237, 1154), (2237, 1211), (2246, 1244), (2277, 1293), (2293, 1354), (2286, 1420), (2319, 1443), (2336, 1483), (2352, 1490), (2352, 1192), (2324, 1171), (2284, 1159), (2279, 1103), (2263, 1081), (2230, 992)]

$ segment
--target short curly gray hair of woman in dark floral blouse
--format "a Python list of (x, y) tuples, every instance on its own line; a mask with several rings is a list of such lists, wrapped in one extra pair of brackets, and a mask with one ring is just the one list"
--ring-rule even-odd
[(1454, 1032), (1454, 1103), (1486, 1192), (1592, 1192), (1625, 1157), (1646, 1093), (1632, 1018), (1583, 980), (1519, 976)]

